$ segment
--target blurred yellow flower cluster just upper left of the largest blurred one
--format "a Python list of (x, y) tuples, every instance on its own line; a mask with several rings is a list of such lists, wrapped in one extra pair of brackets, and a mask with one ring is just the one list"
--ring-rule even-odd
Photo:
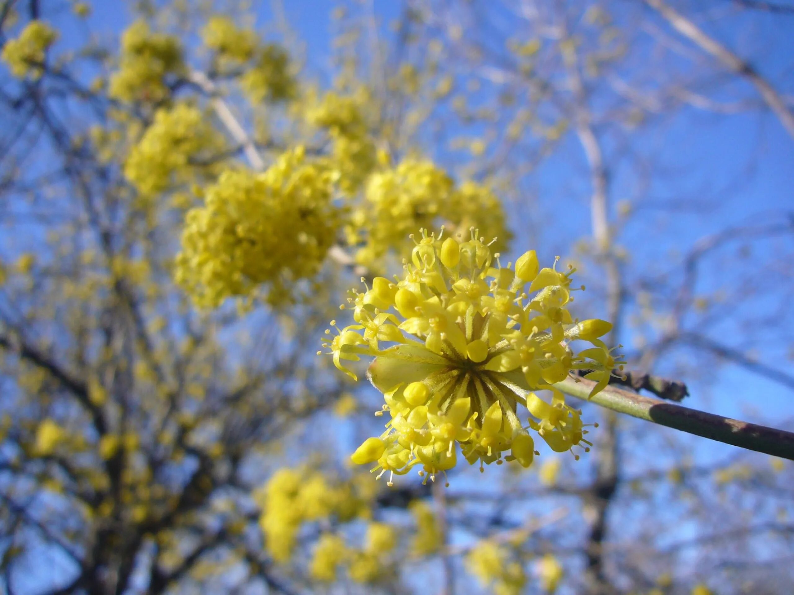
[(152, 125), (129, 152), (124, 175), (138, 192), (152, 196), (173, 184), (189, 182), (195, 173), (191, 159), (221, 143), (197, 107), (178, 103), (158, 109)]

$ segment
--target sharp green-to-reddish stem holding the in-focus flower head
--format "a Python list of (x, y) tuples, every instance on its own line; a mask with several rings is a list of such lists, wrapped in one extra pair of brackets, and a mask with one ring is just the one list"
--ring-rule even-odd
[(626, 413), (681, 432), (794, 461), (792, 432), (731, 420), (729, 417), (689, 409), (661, 399), (644, 397), (614, 386), (607, 386), (595, 397), (588, 399), (595, 382), (583, 378), (566, 378), (554, 386), (572, 397), (591, 401), (618, 413)]

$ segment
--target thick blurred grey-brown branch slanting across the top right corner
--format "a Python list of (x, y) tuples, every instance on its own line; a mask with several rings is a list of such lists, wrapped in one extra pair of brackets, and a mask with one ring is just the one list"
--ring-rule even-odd
[(769, 106), (769, 109), (772, 109), (777, 119), (781, 121), (784, 129), (794, 138), (794, 113), (788, 109), (781, 94), (754, 67), (736, 56), (734, 52), (720, 44), (719, 41), (708, 36), (703, 29), (700, 29), (695, 23), (662, 0), (645, 0), (645, 3), (661, 14), (665, 21), (668, 21), (678, 33), (687, 37), (707, 54), (714, 56), (730, 71), (752, 83), (758, 93), (761, 94), (761, 98), (764, 99), (766, 105)]

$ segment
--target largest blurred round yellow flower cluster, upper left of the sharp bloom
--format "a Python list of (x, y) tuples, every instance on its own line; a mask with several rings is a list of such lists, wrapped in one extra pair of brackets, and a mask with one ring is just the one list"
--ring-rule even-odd
[(336, 238), (341, 211), (331, 200), (332, 175), (306, 163), (303, 148), (267, 171), (225, 171), (187, 213), (175, 278), (202, 307), (268, 285), (267, 299), (294, 298)]

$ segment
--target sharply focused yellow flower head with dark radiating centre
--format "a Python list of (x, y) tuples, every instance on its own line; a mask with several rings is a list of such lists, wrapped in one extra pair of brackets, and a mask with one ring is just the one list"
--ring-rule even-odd
[[(354, 379), (345, 363), (375, 356), (368, 378), (386, 401), (376, 415), (391, 416), (353, 463), (374, 464), (379, 478), (419, 466), (434, 479), (456, 465), (460, 446), (480, 470), (503, 460), (528, 467), (538, 454), (530, 430), (553, 451), (588, 451), (581, 412), (554, 384), (571, 370), (590, 370), (585, 377), (597, 380), (592, 396), (622, 361), (599, 340), (610, 323), (572, 319), (574, 269), (557, 271), (557, 260), (540, 269), (534, 251), (515, 269), (502, 267), (475, 230), (462, 242), (442, 235), (422, 230), (403, 277), (377, 277), (372, 288), (352, 290), (342, 309), (353, 309), (356, 324), (337, 328), (336, 336), (326, 331), (334, 364)], [(576, 351), (577, 342), (590, 345)], [(550, 402), (535, 390), (549, 390)]]

